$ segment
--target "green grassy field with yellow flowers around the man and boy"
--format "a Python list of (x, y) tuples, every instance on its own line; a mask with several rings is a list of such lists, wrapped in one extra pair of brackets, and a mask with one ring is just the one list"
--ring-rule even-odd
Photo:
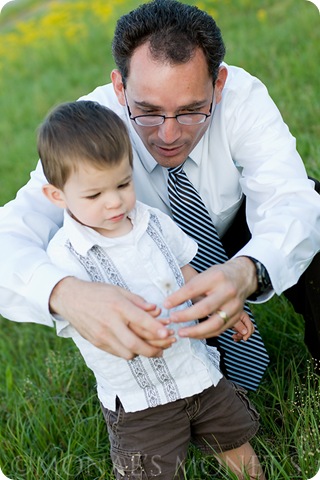
[[(48, 109), (109, 81), (116, 18), (136, 0), (16, 0), (0, 15), (0, 201), (35, 167), (35, 130)], [(261, 78), (320, 176), (320, 29), (305, 0), (207, 0), (228, 63)], [(320, 383), (303, 322), (284, 298), (255, 308), (271, 364), (255, 394), (254, 440), (268, 478), (309, 479), (320, 468)], [(13, 480), (112, 479), (94, 379), (52, 329), (0, 319), (0, 467)], [(190, 449), (187, 478), (230, 478)]]

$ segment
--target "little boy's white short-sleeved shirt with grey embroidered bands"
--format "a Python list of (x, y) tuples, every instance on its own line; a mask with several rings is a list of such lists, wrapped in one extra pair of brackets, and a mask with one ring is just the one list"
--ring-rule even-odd
[[(152, 214), (156, 221), (151, 220)], [(162, 307), (166, 296), (183, 284), (180, 268), (195, 256), (197, 244), (167, 215), (140, 202), (130, 218), (131, 232), (107, 238), (65, 213), (64, 225), (50, 242), (48, 254), (69, 275), (89, 281), (94, 276), (98, 281), (125, 285)], [(148, 233), (150, 226), (152, 234)], [(100, 250), (94, 255), (92, 247), (97, 246)], [(162, 309), (161, 316), (167, 317), (168, 311)], [(59, 319), (56, 325), (59, 335), (73, 338), (96, 377), (100, 401), (111, 410), (115, 410), (116, 397), (125, 411), (134, 412), (195, 395), (222, 378), (219, 353), (200, 340), (177, 336), (177, 342), (163, 352), (162, 358), (138, 356), (127, 361), (96, 348), (67, 321)], [(175, 330), (180, 327), (170, 325)]]

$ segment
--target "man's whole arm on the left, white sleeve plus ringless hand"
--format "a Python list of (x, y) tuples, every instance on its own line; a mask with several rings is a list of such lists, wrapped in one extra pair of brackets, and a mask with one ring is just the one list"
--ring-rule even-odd
[(125, 358), (159, 354), (147, 340), (166, 338), (168, 331), (147, 313), (149, 306), (140, 297), (64, 278), (65, 272), (51, 263), (46, 248), (61, 226), (62, 210), (42, 194), (44, 182), (39, 164), (17, 198), (0, 211), (1, 314), (52, 326), (50, 305), (102, 349)]

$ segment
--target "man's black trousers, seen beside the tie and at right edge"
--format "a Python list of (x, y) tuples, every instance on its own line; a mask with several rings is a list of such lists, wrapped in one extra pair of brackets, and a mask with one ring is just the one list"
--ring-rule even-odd
[[(314, 179), (313, 179), (314, 180)], [(314, 180), (315, 190), (320, 194), (320, 182)], [(246, 222), (245, 200), (237, 216), (222, 238), (229, 257), (233, 256), (251, 238)], [(305, 321), (305, 344), (313, 358), (320, 361), (320, 252), (300, 277), (298, 283), (283, 292), (297, 313)]]

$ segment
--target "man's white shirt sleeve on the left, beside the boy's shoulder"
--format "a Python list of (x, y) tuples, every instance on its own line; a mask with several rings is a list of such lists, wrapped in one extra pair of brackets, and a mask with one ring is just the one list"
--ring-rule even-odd
[(42, 195), (44, 181), (39, 163), (16, 199), (0, 209), (0, 313), (52, 326), (49, 296), (64, 273), (45, 250), (62, 223), (62, 211)]

